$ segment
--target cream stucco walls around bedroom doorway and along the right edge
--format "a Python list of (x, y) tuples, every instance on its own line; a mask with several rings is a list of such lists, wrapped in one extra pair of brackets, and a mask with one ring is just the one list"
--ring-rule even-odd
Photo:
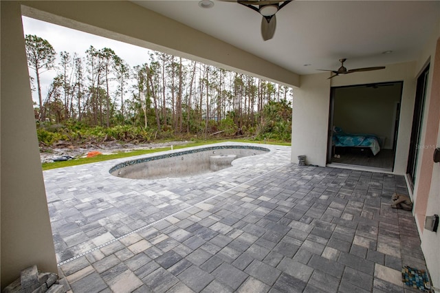
[[(426, 93), (426, 109), (423, 115), (421, 142), (440, 146), (440, 25), (430, 42), (423, 46), (417, 61), (386, 65), (375, 72), (360, 72), (338, 76), (326, 83), (328, 74), (300, 77), (300, 89), (294, 92), (292, 114), (292, 162), (297, 155), (307, 155), (308, 164), (325, 165), (327, 153), (327, 125), (329, 120), (329, 96), (331, 87), (403, 81), (399, 135), (394, 173), (404, 175), (408, 162), (412, 113), (415, 102), (417, 76), (430, 61), (430, 76)], [(436, 53), (437, 45), (437, 53)], [(436, 58), (434, 59), (434, 56)], [(421, 247), (435, 287), (440, 287), (440, 231), (423, 231), (426, 215), (440, 214), (440, 164), (432, 164), (433, 147), (421, 149), (418, 156), (415, 182), (415, 218), (419, 227)]]

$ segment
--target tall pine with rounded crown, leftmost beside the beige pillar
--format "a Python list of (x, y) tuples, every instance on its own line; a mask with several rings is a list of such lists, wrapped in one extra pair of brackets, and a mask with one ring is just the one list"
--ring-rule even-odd
[(36, 76), (36, 87), (39, 95), (40, 117), (39, 120), (44, 119), (43, 98), (41, 98), (41, 81), (40, 74), (43, 69), (52, 69), (56, 52), (50, 43), (32, 34), (25, 36), (26, 56), (28, 56), (28, 66), (34, 69)]

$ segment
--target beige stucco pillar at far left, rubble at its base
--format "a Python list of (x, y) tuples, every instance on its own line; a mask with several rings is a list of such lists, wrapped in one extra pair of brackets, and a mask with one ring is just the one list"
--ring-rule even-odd
[(1, 1), (1, 288), (34, 264), (58, 272), (20, 5)]

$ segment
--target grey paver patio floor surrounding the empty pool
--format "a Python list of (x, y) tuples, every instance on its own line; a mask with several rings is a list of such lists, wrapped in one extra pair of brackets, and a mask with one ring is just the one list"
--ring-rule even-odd
[[(234, 144), (234, 143), (228, 143)], [(260, 145), (261, 146), (261, 145)], [(412, 292), (426, 268), (403, 176), (290, 163), (290, 147), (215, 173), (128, 180), (113, 160), (45, 171), (73, 292)]]

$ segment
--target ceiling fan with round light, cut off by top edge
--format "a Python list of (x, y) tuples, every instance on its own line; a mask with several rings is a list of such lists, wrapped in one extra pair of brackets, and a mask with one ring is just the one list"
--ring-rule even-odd
[(264, 41), (274, 37), (276, 29), (275, 14), (290, 2), (292, 2), (292, 0), (237, 0), (237, 3), (259, 12), (259, 14), (263, 16), (263, 19), (261, 19), (261, 36), (263, 36)]

